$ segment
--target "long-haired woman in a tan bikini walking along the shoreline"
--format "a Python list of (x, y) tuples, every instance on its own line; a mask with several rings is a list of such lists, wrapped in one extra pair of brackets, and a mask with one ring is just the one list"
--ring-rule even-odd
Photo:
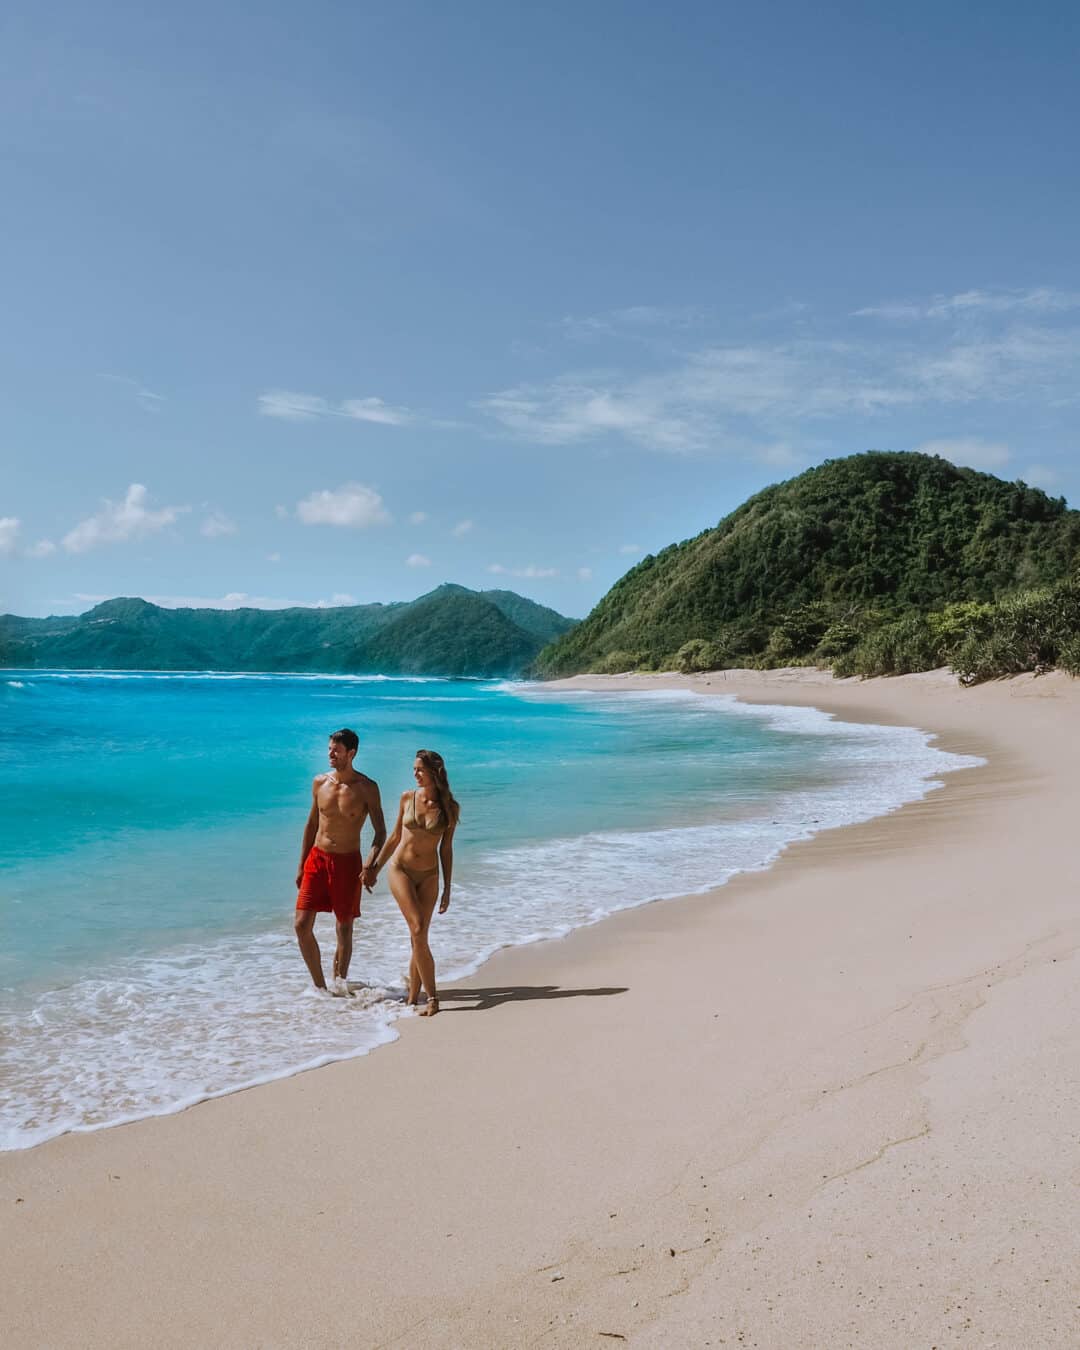
[(428, 996), (421, 1017), (435, 1017), (439, 995), (435, 991), (435, 957), (428, 946), (428, 929), (439, 895), (439, 864), (443, 864), (443, 899), (439, 913), (450, 909), (450, 878), (454, 871), (454, 830), (460, 807), (447, 780), (443, 756), (435, 751), (417, 751), (413, 760), (416, 787), (401, 794), (397, 824), (382, 845), (375, 871), (390, 859), (390, 891), (405, 915), (413, 941), (409, 961), (409, 1004), (420, 999), (420, 986)]

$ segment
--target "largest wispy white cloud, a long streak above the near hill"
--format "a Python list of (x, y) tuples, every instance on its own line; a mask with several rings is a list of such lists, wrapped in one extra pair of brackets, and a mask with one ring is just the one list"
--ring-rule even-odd
[[(801, 336), (713, 344), (680, 354), (666, 369), (574, 371), (497, 390), (475, 406), (541, 446), (617, 439), (653, 451), (729, 447), (795, 463), (792, 441), (805, 443), (810, 423), (1033, 394), (1050, 406), (1080, 398), (1080, 329), (1037, 324), (1037, 305), (1050, 301), (1025, 297), (1023, 321), (999, 308), (990, 327), (957, 321), (921, 340)], [(961, 300), (953, 300), (957, 313)], [(1058, 304), (1064, 309), (1064, 298)]]

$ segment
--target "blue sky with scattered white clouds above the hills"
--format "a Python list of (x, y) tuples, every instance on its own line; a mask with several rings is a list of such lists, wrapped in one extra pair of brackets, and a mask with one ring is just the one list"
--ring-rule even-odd
[(0, 612), (579, 617), (871, 448), (1080, 504), (1079, 66), (1041, 0), (12, 0)]

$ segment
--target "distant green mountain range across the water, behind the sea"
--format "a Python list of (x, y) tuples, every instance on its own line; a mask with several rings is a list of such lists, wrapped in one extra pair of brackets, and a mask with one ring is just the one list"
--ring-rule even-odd
[(120, 598), (74, 617), (0, 616), (0, 666), (487, 678), (521, 674), (572, 626), (514, 591), (454, 585), (339, 609), (162, 609)]

